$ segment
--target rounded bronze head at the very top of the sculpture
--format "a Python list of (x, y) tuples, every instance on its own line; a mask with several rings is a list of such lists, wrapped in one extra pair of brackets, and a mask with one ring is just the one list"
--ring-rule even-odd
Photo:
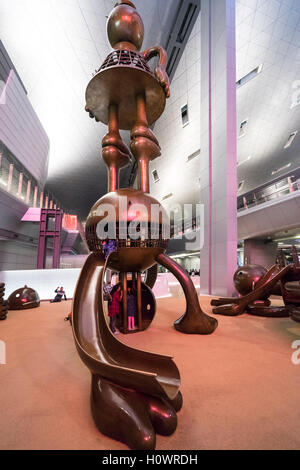
[(116, 4), (107, 20), (107, 36), (113, 49), (141, 50), (144, 24), (132, 2)]

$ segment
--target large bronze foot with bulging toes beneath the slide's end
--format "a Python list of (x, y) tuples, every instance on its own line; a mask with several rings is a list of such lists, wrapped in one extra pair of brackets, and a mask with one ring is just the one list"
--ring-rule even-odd
[[(182, 403), (181, 394), (178, 396), (174, 400), (177, 406)], [(156, 433), (168, 436), (177, 427), (172, 402), (125, 389), (95, 375), (91, 407), (99, 431), (134, 450), (155, 449)]]

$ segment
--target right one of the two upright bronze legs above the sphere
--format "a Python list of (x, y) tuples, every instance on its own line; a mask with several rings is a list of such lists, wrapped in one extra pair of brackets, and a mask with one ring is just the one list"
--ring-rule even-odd
[(136, 97), (136, 124), (131, 131), (131, 151), (138, 164), (139, 189), (149, 193), (149, 162), (160, 156), (158, 141), (148, 126), (145, 96)]

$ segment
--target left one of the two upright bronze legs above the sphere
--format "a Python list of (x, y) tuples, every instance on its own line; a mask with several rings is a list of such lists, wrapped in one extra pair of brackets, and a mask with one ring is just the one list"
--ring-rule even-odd
[(102, 156), (108, 168), (108, 192), (112, 192), (119, 188), (119, 172), (128, 165), (130, 153), (120, 136), (118, 106), (110, 104), (108, 115), (109, 130), (102, 140)]

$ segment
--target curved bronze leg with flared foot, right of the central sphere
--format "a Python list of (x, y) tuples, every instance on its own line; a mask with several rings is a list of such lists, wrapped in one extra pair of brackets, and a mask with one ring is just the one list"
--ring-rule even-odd
[(201, 310), (195, 286), (186, 271), (164, 254), (158, 255), (156, 261), (174, 274), (185, 294), (186, 312), (174, 323), (175, 329), (188, 334), (213, 333), (218, 326), (218, 321)]

